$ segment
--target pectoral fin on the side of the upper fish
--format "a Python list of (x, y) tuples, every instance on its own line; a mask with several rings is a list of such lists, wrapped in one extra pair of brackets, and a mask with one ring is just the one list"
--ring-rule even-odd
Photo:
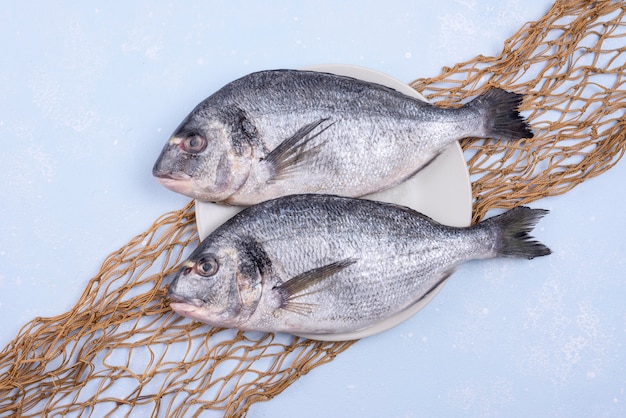
[[(285, 139), (265, 157), (273, 173), (269, 181), (280, 180), (289, 176), (307, 161), (312, 160), (326, 143), (321, 142), (313, 147), (306, 148), (309, 142), (320, 136), (335, 122), (323, 126), (330, 118), (323, 118), (298, 129), (290, 138)], [(316, 131), (316, 129), (319, 130)]]

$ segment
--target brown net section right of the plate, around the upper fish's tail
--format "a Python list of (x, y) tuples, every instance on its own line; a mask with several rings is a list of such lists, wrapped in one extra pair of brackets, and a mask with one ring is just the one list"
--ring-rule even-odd
[(523, 26), (498, 57), (478, 56), (411, 86), (429, 101), (454, 106), (501, 87), (524, 93), (535, 132), (526, 142), (466, 139), (474, 221), (565, 193), (611, 168), (624, 154), (626, 5), (557, 1)]

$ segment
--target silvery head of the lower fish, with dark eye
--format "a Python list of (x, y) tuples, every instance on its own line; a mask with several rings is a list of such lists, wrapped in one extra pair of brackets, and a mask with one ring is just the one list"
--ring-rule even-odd
[[(238, 328), (256, 310), (262, 280), (236, 249), (202, 245), (183, 263), (167, 296), (178, 314), (214, 326)], [(242, 268), (243, 266), (243, 268)]]

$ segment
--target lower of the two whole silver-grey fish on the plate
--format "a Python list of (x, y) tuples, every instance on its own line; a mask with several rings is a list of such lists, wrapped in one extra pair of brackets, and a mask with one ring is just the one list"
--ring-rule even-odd
[(420, 304), (468, 260), (532, 259), (548, 211), (519, 206), (469, 227), (391, 203), (288, 195), (249, 206), (182, 263), (178, 314), (216, 327), (353, 339)]

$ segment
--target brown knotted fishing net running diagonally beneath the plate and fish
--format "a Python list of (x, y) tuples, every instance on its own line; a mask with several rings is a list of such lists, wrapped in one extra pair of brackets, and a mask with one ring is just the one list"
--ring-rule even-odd
[[(625, 12), (620, 1), (557, 1), (499, 56), (412, 83), (442, 106), (490, 87), (526, 95), (533, 139), (462, 142), (474, 221), (564, 193), (624, 154)], [(354, 344), (223, 330), (174, 314), (164, 278), (197, 244), (190, 203), (109, 255), (69, 312), (28, 323), (0, 354), (0, 415), (242, 416)]]

